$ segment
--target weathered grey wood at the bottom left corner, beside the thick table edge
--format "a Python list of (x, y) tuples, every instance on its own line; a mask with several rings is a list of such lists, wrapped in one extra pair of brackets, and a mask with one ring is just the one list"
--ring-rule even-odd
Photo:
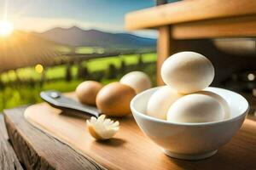
[(1, 170), (22, 170), (20, 161), (15, 155), (15, 151), (8, 141), (9, 137), (3, 121), (3, 115), (0, 113), (0, 169)]

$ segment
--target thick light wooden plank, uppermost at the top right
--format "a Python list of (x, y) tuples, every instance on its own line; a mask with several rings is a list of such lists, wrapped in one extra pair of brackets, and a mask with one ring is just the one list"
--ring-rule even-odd
[(125, 28), (138, 30), (177, 23), (256, 14), (255, 0), (194, 0), (168, 3), (125, 15)]

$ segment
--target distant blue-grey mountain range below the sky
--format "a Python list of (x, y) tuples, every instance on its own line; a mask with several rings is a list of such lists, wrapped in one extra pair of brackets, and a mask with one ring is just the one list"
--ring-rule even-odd
[(52, 42), (79, 47), (102, 48), (155, 48), (156, 40), (137, 37), (128, 33), (109, 33), (97, 30), (82, 30), (77, 26), (71, 28), (54, 28), (43, 33), (34, 33)]

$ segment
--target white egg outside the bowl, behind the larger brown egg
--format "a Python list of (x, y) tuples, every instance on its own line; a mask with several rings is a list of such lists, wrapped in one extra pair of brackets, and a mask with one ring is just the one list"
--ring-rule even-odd
[(130, 86), (137, 94), (152, 86), (150, 78), (143, 71), (132, 71), (122, 77), (119, 82)]

